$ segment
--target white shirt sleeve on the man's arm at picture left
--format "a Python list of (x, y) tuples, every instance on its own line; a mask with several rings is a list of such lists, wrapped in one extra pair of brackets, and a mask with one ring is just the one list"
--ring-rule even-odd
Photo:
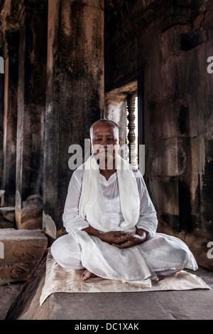
[(85, 229), (89, 226), (88, 221), (83, 219), (79, 214), (82, 179), (80, 179), (78, 174), (79, 173), (76, 170), (70, 179), (65, 209), (62, 215), (63, 225), (65, 226), (67, 233)]

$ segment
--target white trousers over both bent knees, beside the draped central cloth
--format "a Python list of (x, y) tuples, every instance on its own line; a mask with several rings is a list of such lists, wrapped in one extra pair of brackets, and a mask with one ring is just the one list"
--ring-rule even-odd
[[(148, 265), (158, 275), (169, 275), (183, 268), (197, 269), (194, 256), (183, 241), (174, 236), (155, 233), (143, 244), (136, 246)], [(51, 254), (63, 268), (84, 269), (81, 262), (81, 246), (70, 235), (56, 239)]]

